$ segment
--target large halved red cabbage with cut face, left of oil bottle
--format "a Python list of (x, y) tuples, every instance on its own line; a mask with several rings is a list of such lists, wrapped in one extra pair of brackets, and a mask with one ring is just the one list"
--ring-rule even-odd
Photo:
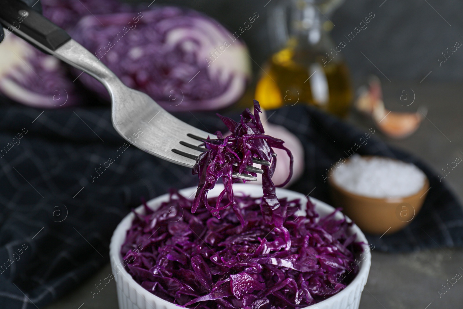
[[(88, 15), (71, 33), (125, 85), (169, 111), (230, 105), (244, 93), (250, 76), (245, 45), (214, 20), (189, 9), (166, 6)], [(84, 74), (81, 82), (108, 97), (92, 77)]]

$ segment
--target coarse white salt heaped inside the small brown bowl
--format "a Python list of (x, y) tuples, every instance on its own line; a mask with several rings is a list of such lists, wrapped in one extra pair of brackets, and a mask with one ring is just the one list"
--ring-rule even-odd
[(416, 194), (426, 179), (425, 173), (414, 164), (381, 157), (363, 158), (357, 154), (334, 170), (332, 177), (334, 183), (350, 193), (374, 198)]

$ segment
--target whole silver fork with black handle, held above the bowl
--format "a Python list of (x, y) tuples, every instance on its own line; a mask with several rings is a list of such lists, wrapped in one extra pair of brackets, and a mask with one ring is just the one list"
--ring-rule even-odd
[[(111, 118), (116, 131), (131, 145), (169, 162), (193, 168), (202, 141), (216, 139), (211, 133), (178, 120), (150, 96), (125, 86), (99, 58), (19, 0), (0, 0), (0, 23), (38, 49), (69, 63), (101, 82), (111, 96)], [(201, 142), (198, 145), (198, 142)], [(269, 166), (270, 162), (253, 159)], [(246, 170), (263, 173), (248, 165)], [(234, 178), (256, 181), (257, 177), (233, 173)]]

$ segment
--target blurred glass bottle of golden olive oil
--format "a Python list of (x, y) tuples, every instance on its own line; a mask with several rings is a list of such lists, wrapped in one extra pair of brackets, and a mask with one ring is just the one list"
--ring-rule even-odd
[(349, 70), (320, 26), (311, 0), (291, 0), (290, 38), (264, 68), (255, 97), (264, 109), (310, 104), (345, 117), (352, 102)]

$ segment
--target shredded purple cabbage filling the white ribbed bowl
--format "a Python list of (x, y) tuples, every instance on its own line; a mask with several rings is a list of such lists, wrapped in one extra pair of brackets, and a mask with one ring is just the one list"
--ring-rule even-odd
[[(175, 191), (153, 211), (135, 214), (121, 247), (124, 267), (156, 296), (196, 309), (293, 309), (324, 300), (349, 284), (361, 252), (352, 223), (320, 219), (307, 201), (277, 200), (291, 246), (262, 212), (265, 198), (209, 198), (221, 219)], [(245, 225), (237, 219), (244, 218)]]

